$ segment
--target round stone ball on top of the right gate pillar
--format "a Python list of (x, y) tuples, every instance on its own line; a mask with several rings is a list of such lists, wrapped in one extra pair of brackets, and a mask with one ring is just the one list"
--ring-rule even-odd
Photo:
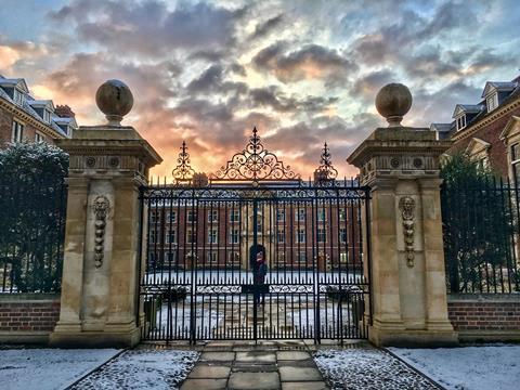
[(376, 96), (376, 108), (388, 121), (388, 127), (400, 127), (403, 116), (412, 107), (412, 93), (402, 83), (382, 87)]

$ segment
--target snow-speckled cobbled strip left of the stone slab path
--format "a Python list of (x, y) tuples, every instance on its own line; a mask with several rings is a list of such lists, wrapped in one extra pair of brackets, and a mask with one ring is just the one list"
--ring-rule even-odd
[(73, 389), (179, 389), (197, 359), (198, 352), (195, 351), (130, 350), (81, 380)]

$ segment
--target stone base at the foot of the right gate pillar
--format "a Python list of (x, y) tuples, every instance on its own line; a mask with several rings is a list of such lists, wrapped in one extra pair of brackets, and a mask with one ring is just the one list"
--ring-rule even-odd
[(438, 348), (457, 347), (458, 335), (441, 329), (391, 329), (368, 327), (368, 339), (377, 347)]

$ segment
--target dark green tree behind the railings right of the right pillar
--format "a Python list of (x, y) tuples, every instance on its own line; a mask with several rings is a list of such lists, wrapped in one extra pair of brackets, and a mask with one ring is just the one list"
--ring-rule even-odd
[[(441, 169), (442, 220), (447, 282), (452, 292), (497, 291), (515, 275), (516, 191), (466, 155)], [(509, 277), (509, 278), (508, 278)], [(515, 283), (515, 281), (512, 281)]]

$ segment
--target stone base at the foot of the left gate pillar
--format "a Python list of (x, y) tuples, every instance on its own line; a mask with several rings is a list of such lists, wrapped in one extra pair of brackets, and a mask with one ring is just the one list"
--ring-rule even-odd
[(60, 348), (130, 348), (136, 346), (140, 339), (138, 327), (108, 332), (66, 332), (56, 326), (49, 337), (49, 344)]

